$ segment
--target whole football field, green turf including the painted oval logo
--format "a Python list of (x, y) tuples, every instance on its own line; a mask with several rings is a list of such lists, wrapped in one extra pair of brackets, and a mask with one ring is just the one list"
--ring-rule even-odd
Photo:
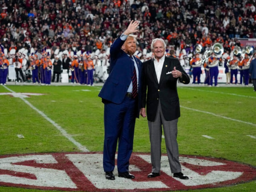
[[(97, 189), (97, 191), (136, 191), (138, 189), (139, 186), (136, 187), (136, 190), (129, 187), (118, 188), (119, 185), (124, 186), (124, 184), (118, 185), (118, 180), (108, 181), (111, 183), (106, 184), (107, 181), (104, 179), (104, 171), (101, 168), (104, 142), (104, 105), (101, 98), (98, 97), (100, 90), (101, 86), (97, 85), (53, 84), (51, 86), (35, 86), (20, 84), (0, 86), (0, 191), (93, 191), (93, 189)], [(204, 87), (192, 86), (191, 84), (181, 86), (178, 83), (178, 94), (181, 105), (181, 117), (178, 121), (178, 144), (181, 160), (184, 160), (182, 164), (184, 174), (192, 178), (191, 182), (197, 180), (190, 175), (189, 170), (193, 170), (194, 167), (192, 165), (186, 166), (188, 164), (185, 162), (186, 158), (214, 158), (235, 162), (234, 167), (230, 169), (240, 170), (243, 179), (234, 180), (234, 176), (233, 180), (237, 182), (230, 183), (222, 179), (221, 181), (216, 180), (212, 184), (209, 176), (208, 183), (198, 181), (197, 186), (199, 187), (195, 187), (193, 184), (184, 184), (187, 187), (178, 184), (176, 188), (169, 188), (169, 191), (175, 189), (186, 191), (255, 191), (256, 92), (253, 91), (251, 84), (249, 87), (226, 87), (225, 85)], [(150, 143), (146, 118), (140, 117), (136, 120), (133, 152), (136, 156), (134, 158), (141, 157), (145, 162), (148, 160)], [(164, 136), (162, 154), (166, 154)], [(49, 160), (49, 158), (46, 160), (45, 157), (50, 159), (52, 157), (55, 159), (69, 157), (69, 160), (73, 162), (72, 166), (81, 172), (80, 176), (88, 178), (86, 180), (88, 185), (85, 186), (84, 183), (80, 182), (80, 187), (78, 187), (77, 183), (79, 182), (74, 181), (76, 176), (70, 176), (73, 175), (72, 171), (69, 173), (63, 168), (66, 171), (61, 172), (62, 165), (58, 164), (59, 167), (56, 168), (50, 165), (54, 164), (55, 160)], [(87, 162), (79, 168), (84, 157)], [(23, 160), (18, 161), (19, 158)], [(39, 160), (37, 161), (35, 158)], [(98, 164), (98, 167), (95, 166), (93, 162), (90, 162), (90, 159), (94, 159), (99, 166)], [(163, 158), (164, 160), (165, 158)], [(39, 161), (43, 162), (41, 167), (37, 166), (40, 164)], [(43, 168), (43, 165), (47, 166), (47, 169)], [(243, 165), (249, 167), (250, 171), (243, 173)], [(87, 171), (83, 171), (82, 169), (86, 166), (88, 166)], [(26, 167), (31, 170), (24, 171)], [(40, 167), (41, 170), (45, 170), (44, 173), (47, 170), (54, 170), (55, 175), (67, 174), (67, 177), (64, 178), (63, 176), (65, 182), (60, 182), (59, 185), (52, 182), (52, 187), (50, 180), (57, 180), (58, 177), (49, 179), (51, 174), (47, 173), (49, 178), (45, 178), (44, 181), (49, 180), (49, 183), (37, 183), (37, 171), (39, 169), (34, 167)], [(146, 177), (151, 172), (150, 162), (143, 168), (145, 168), (143, 175)], [(164, 166), (162, 168), (165, 170)], [(91, 170), (90, 174), (88, 174), (89, 170)], [(91, 186), (93, 180), (90, 177), (94, 171), (98, 175), (92, 179), (102, 177), (104, 184)], [(168, 175), (170, 172), (163, 171), (161, 175), (164, 178), (164, 175)], [(206, 172), (204, 174), (197, 172), (198, 178), (201, 175), (206, 175)], [(82, 175), (82, 173), (85, 174)], [(136, 177), (136, 171), (132, 173)], [(47, 177), (47, 174), (40, 176)], [(226, 174), (229, 177), (232, 173)], [(223, 176), (219, 174), (219, 177)], [(159, 183), (155, 182), (152, 189), (150, 184), (146, 184), (147, 181), (145, 179), (145, 182), (141, 182), (147, 187), (141, 187), (137, 191), (168, 191), (166, 190), (168, 188), (163, 187), (164, 185), (156, 187), (161, 178)], [(163, 181), (163, 183), (165, 182)], [(117, 187), (111, 188), (115, 184)], [(165, 183), (165, 185), (168, 184)], [(104, 187), (97, 186), (105, 186), (106, 190)]]

